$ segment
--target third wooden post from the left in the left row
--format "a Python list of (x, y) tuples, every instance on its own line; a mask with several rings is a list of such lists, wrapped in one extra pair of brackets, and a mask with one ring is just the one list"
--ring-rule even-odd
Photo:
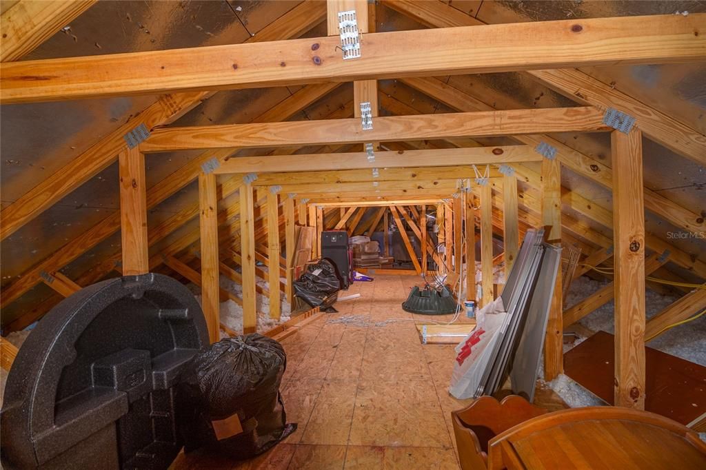
[[(255, 294), (255, 217), (253, 215), (253, 186), (243, 183), (240, 193), (240, 256), (243, 276), (243, 333), (257, 330)], [(270, 289), (273, 290), (273, 289)]]

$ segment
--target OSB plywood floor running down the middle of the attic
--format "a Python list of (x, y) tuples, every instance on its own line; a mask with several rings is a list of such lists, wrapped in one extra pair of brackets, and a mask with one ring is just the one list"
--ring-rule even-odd
[[(415, 323), (448, 321), (402, 311), (419, 278), (376, 275), (357, 282), (325, 314), (282, 341), (287, 372), (282, 395), (287, 421), (297, 431), (249, 462), (180, 455), (174, 469), (458, 469), (450, 412), (469, 400), (447, 392), (454, 346), (422, 345)], [(369, 323), (330, 323), (363, 315)], [(460, 319), (463, 321), (463, 318)], [(547, 408), (563, 406), (551, 390), (539, 390)], [(540, 404), (540, 406), (543, 406)]]

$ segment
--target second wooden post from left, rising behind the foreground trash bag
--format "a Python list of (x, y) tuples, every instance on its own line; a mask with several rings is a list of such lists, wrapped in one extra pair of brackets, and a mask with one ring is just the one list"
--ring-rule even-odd
[(199, 227), (201, 227), (201, 306), (208, 339), (220, 339), (220, 291), (218, 273), (218, 200), (215, 174), (198, 175)]

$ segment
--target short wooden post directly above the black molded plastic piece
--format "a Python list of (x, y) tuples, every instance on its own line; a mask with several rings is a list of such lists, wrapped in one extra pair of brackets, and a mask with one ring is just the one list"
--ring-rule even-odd
[(145, 155), (138, 147), (126, 148), (119, 155), (120, 236), (123, 251), (123, 275), (141, 275), (150, 271), (147, 240), (147, 187)]

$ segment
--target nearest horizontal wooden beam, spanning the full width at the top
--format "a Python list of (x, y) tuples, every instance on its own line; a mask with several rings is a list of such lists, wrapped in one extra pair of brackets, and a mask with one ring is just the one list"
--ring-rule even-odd
[[(26, 61), (0, 72), (0, 102), (699, 61), (706, 39), (694, 31), (703, 22), (693, 13), (582, 19), (580, 29), (577, 20), (560, 20), (370, 33), (364, 54), (345, 64), (333, 36)], [(458, 44), (474, 44), (473, 53)]]

